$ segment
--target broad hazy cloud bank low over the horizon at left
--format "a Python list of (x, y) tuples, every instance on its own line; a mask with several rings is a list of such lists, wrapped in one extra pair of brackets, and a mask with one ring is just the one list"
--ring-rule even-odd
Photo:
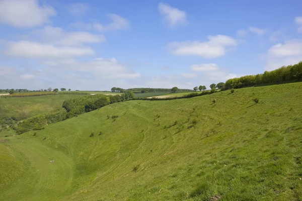
[(4, 88), (39, 89), (51, 86), (73, 90), (109, 90), (113, 86), (130, 87), (132, 81), (129, 80), (140, 77), (140, 73), (131, 70), (115, 58), (81, 61), (56, 58), (30, 66), (0, 66), (0, 85)]

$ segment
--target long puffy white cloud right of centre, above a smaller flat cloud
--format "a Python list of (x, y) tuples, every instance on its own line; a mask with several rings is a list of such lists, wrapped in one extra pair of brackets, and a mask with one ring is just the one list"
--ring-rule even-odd
[(230, 36), (208, 36), (208, 41), (172, 42), (167, 46), (176, 55), (196, 55), (203, 58), (215, 58), (225, 54), (226, 48), (236, 46), (237, 41)]

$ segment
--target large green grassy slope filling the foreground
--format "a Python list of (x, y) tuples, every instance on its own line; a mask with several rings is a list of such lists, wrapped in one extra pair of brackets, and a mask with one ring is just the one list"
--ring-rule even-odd
[(251, 87), (1, 137), (0, 200), (301, 200), (301, 105), (301, 82)]

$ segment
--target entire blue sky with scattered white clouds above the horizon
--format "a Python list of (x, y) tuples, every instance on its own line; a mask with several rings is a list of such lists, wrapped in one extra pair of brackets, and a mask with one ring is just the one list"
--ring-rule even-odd
[(300, 0), (0, 0), (0, 88), (193, 89), (302, 60)]

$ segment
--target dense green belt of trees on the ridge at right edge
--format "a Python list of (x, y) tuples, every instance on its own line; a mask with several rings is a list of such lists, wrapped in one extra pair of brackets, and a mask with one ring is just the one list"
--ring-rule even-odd
[(282, 66), (276, 70), (265, 71), (262, 74), (246, 75), (226, 80), (222, 90), (242, 88), (259, 84), (277, 84), (302, 79), (302, 61), (294, 65)]

